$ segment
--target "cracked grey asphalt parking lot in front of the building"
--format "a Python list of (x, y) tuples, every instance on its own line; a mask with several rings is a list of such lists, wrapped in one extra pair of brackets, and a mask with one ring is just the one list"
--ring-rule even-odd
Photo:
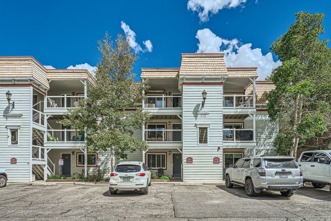
[(328, 186), (310, 185), (292, 197), (262, 191), (249, 197), (241, 187), (154, 184), (148, 195), (111, 195), (107, 184), (29, 186), (0, 189), (1, 220), (217, 220), (330, 221)]

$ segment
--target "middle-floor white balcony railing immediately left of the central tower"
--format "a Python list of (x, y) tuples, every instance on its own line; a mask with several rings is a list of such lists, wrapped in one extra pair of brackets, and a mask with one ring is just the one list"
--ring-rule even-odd
[(181, 143), (182, 130), (148, 129), (145, 130), (145, 141), (158, 143)]

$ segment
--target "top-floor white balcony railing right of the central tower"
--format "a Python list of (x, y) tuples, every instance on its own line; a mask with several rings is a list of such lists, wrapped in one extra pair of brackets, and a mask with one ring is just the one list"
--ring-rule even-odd
[(224, 95), (224, 108), (253, 108), (253, 95)]

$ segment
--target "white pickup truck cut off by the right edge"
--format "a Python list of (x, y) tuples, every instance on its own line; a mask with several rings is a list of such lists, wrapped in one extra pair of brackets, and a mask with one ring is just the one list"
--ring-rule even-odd
[(298, 164), (302, 169), (304, 182), (311, 182), (317, 189), (330, 185), (331, 150), (304, 151), (300, 155)]

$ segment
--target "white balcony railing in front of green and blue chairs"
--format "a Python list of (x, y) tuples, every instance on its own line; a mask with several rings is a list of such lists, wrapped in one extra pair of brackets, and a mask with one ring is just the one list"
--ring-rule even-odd
[(47, 143), (83, 143), (84, 133), (78, 134), (76, 130), (47, 130)]

